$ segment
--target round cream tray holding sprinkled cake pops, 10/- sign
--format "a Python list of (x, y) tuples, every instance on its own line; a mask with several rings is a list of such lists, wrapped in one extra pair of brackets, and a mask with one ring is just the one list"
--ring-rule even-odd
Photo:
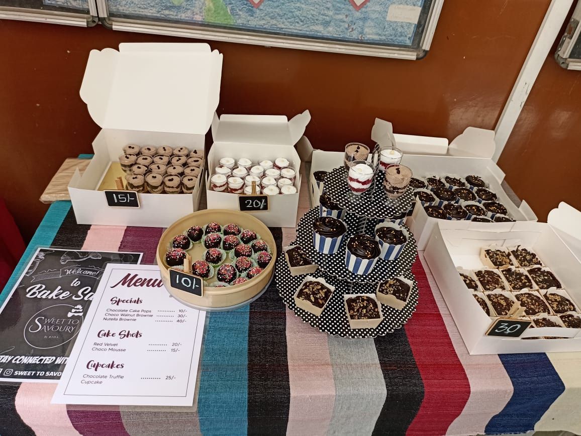
[[(191, 226), (204, 226), (209, 222), (216, 221), (224, 226), (234, 222), (243, 229), (249, 229), (260, 235), (261, 239), (265, 240), (270, 246), (272, 261), (264, 268), (264, 271), (253, 279), (248, 280), (242, 284), (227, 287), (210, 287), (204, 286), (202, 297), (190, 294), (180, 289), (174, 288), (170, 285), (169, 268), (165, 262), (166, 252), (171, 240), (176, 235), (180, 235), (188, 230)], [(192, 262), (202, 258), (202, 254), (206, 249), (203, 244), (193, 244), (188, 254), (192, 257)], [(239, 307), (238, 305), (252, 300), (254, 296), (259, 294), (270, 282), (274, 273), (274, 262), (277, 258), (277, 246), (274, 237), (268, 227), (259, 219), (244, 212), (226, 210), (226, 209), (207, 209), (193, 214), (187, 215), (184, 218), (178, 219), (171, 226), (169, 226), (157, 244), (157, 265), (161, 271), (163, 283), (166, 285), (168, 292), (174, 296), (178, 301), (191, 304), (196, 307), (205, 308), (227, 308), (231, 306)], [(228, 259), (223, 263), (230, 262)], [(207, 282), (213, 283), (216, 278), (211, 278)], [(205, 283), (206, 284), (206, 283)]]

